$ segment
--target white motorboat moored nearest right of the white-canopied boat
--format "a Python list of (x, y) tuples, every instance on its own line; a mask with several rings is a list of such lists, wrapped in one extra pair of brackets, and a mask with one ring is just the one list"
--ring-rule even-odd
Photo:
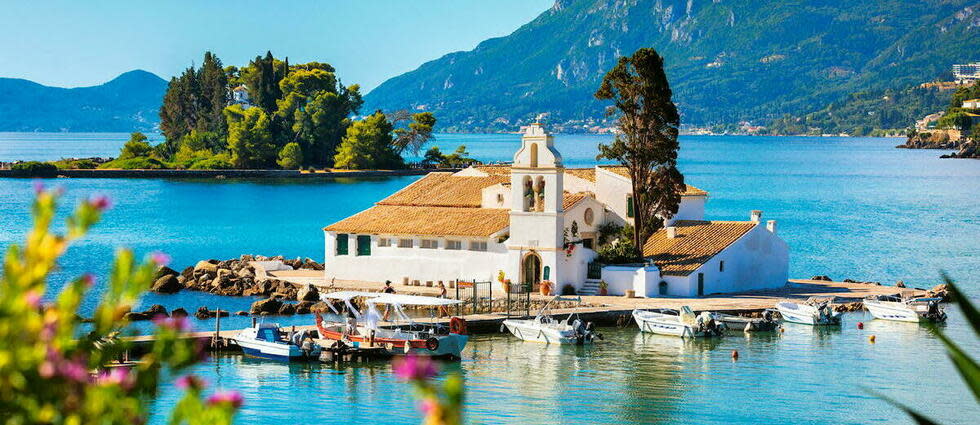
[(559, 301), (578, 301), (581, 303), (582, 298), (555, 296), (544, 307), (541, 307), (533, 319), (507, 319), (504, 320), (502, 327), (524, 341), (543, 342), (545, 344), (582, 345), (592, 343), (596, 338), (601, 338), (591, 329), (591, 324), (582, 322), (577, 313), (569, 314), (565, 320), (557, 320), (552, 317), (552, 306)]

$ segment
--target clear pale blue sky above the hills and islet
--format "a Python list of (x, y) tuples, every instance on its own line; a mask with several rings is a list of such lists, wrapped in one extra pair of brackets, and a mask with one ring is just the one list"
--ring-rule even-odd
[[(373, 88), (507, 35), (554, 0), (4, 1), (0, 77), (75, 87), (145, 69), (169, 79), (205, 50), (225, 65), (272, 50)], [(366, 90), (365, 90), (366, 91)]]

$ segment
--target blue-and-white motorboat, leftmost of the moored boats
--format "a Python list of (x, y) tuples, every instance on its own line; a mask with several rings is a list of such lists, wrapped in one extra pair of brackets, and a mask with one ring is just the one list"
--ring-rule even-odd
[(276, 360), (319, 359), (321, 347), (306, 332), (282, 332), (276, 323), (255, 323), (232, 338), (246, 355)]

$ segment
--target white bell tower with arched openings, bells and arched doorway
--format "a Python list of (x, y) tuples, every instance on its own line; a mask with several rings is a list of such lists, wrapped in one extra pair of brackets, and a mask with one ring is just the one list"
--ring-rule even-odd
[(527, 126), (510, 173), (509, 270), (505, 272), (512, 283), (537, 285), (549, 280), (560, 288), (558, 254), (565, 221), (563, 175), (554, 137), (540, 123)]

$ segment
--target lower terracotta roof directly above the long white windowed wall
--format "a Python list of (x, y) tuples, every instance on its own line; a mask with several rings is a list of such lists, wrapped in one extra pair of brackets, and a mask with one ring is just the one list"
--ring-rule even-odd
[(497, 208), (375, 205), (323, 230), (359, 234), (486, 237), (510, 225), (510, 213)]

